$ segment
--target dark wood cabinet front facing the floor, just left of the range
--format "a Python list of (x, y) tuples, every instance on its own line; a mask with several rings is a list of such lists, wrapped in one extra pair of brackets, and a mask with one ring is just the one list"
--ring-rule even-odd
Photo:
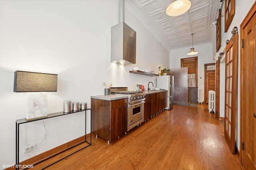
[(127, 132), (127, 106), (111, 109), (111, 140), (117, 139), (122, 134)]

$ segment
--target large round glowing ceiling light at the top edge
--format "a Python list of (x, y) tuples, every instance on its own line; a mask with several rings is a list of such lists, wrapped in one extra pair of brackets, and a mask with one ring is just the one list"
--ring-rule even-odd
[(166, 14), (168, 16), (179, 16), (187, 12), (190, 6), (191, 2), (189, 0), (174, 0), (174, 2), (166, 8)]

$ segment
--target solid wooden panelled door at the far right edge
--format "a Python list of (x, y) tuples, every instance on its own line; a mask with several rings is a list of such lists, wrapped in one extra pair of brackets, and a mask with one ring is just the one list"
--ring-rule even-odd
[(256, 170), (256, 2), (240, 26), (241, 79), (240, 121), (241, 162), (245, 169)]

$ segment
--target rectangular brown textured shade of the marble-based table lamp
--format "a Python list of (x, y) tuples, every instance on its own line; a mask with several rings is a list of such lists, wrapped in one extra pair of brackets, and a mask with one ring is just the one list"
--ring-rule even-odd
[(57, 91), (57, 74), (14, 72), (14, 92)]

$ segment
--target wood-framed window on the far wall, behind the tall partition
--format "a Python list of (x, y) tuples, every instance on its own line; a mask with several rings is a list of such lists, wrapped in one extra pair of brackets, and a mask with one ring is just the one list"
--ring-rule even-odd
[(180, 67), (188, 67), (188, 87), (197, 86), (197, 57), (180, 59)]

